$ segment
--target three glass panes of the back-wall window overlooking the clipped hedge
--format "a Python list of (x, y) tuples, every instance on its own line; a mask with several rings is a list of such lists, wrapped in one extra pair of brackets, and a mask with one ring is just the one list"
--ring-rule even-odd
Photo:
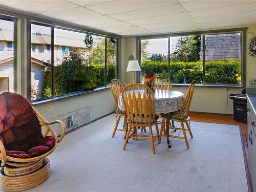
[(172, 83), (242, 85), (242, 31), (140, 38), (141, 75), (168, 77)]

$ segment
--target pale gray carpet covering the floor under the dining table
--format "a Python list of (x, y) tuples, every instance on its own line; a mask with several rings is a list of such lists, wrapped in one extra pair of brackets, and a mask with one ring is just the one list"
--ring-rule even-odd
[[(239, 127), (191, 122), (194, 139), (111, 138), (115, 115), (68, 134), (49, 156), (50, 178), (29, 191), (248, 191)], [(121, 123), (120, 123), (121, 126)]]

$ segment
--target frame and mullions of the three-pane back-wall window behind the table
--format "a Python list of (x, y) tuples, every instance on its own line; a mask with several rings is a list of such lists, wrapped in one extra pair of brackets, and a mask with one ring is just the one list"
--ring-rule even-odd
[[(240, 48), (241, 48), (241, 84), (196, 84), (199, 87), (223, 87), (223, 88), (239, 88), (245, 87), (246, 85), (246, 30), (247, 28), (232, 28), (232, 29), (222, 29), (222, 30), (209, 30), (209, 31), (191, 31), (184, 33), (169, 33), (161, 35), (146, 35), (146, 36), (136, 36), (136, 48), (137, 48), (137, 58), (141, 66), (141, 40), (147, 39), (157, 39), (157, 38), (168, 38), (168, 65), (170, 66), (170, 37), (177, 36), (188, 36), (188, 35), (202, 35), (202, 40), (204, 42), (205, 35), (216, 35), (216, 34), (226, 34), (226, 33), (240, 33)], [(204, 44), (203, 44), (204, 46)], [(205, 50), (203, 49), (203, 79), (205, 76)], [(170, 67), (168, 68), (168, 78), (170, 76)], [(141, 72), (137, 74), (137, 79), (141, 79)], [(205, 81), (203, 81), (205, 82)], [(174, 86), (186, 86), (187, 84), (173, 83)]]

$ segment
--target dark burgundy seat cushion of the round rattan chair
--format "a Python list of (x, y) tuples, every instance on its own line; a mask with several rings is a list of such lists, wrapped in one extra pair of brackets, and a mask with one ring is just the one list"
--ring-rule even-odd
[(28, 151), (9, 151), (6, 150), (6, 155), (15, 158), (31, 158), (40, 156), (49, 152), (55, 144), (55, 139), (52, 136), (46, 136), (38, 143), (37, 146), (30, 148)]

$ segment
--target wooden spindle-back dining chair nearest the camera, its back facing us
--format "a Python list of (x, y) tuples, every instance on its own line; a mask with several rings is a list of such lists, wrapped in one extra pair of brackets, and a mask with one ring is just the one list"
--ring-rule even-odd
[[(159, 130), (157, 125), (157, 119), (159, 117), (155, 115), (154, 93), (150, 88), (144, 86), (144, 84), (131, 83), (124, 87), (122, 91), (122, 99), (128, 122), (128, 130), (123, 144), (123, 150), (125, 150), (127, 141), (130, 138), (136, 140), (150, 140), (152, 153), (155, 154), (154, 142), (156, 139), (159, 139)], [(152, 132), (153, 125), (156, 126), (156, 136), (154, 136)], [(149, 127), (150, 134), (138, 134), (138, 126)]]

